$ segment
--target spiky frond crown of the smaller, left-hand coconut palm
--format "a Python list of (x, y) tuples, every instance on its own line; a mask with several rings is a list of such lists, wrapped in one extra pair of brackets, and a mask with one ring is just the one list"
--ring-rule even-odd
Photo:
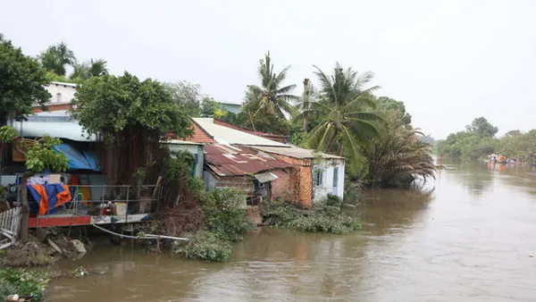
[(285, 113), (293, 112), (293, 107), (289, 104), (289, 101), (298, 99), (297, 96), (290, 94), (296, 88), (296, 85), (281, 88), (282, 82), (287, 77), (289, 68), (290, 66), (287, 66), (279, 74), (276, 74), (273, 71), (270, 52), (264, 56), (264, 59), (261, 59), (258, 71), (261, 79), (261, 87), (256, 85), (247, 86), (247, 99), (253, 102), (253, 105), (257, 108), (254, 116), (267, 113), (281, 119), (286, 119)]

